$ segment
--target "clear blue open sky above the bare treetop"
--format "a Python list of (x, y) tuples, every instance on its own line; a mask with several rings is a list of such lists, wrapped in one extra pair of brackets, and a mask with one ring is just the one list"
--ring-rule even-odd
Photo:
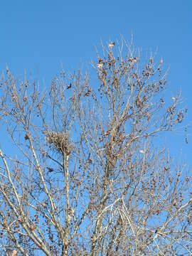
[[(0, 70), (6, 63), (47, 81), (63, 68), (73, 70), (95, 58), (95, 46), (121, 33), (142, 51), (156, 50), (171, 66), (171, 92), (182, 87), (191, 122), (192, 1), (1, 1)], [(191, 129), (189, 129), (191, 132)], [(191, 139), (189, 139), (190, 142)], [(192, 146), (178, 139), (188, 160)], [(174, 145), (172, 145), (174, 146)]]

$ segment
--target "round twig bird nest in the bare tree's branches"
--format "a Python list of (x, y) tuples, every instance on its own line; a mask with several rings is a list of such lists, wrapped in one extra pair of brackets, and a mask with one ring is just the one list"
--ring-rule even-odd
[(70, 155), (72, 144), (69, 142), (68, 134), (64, 132), (48, 132), (46, 140), (57, 151)]

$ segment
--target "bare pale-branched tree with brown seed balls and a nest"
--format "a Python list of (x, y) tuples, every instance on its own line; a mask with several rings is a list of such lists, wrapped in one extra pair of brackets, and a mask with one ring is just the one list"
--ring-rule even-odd
[(186, 110), (162, 67), (122, 39), (44, 89), (6, 68), (1, 255), (192, 255), (191, 174), (158, 137)]

